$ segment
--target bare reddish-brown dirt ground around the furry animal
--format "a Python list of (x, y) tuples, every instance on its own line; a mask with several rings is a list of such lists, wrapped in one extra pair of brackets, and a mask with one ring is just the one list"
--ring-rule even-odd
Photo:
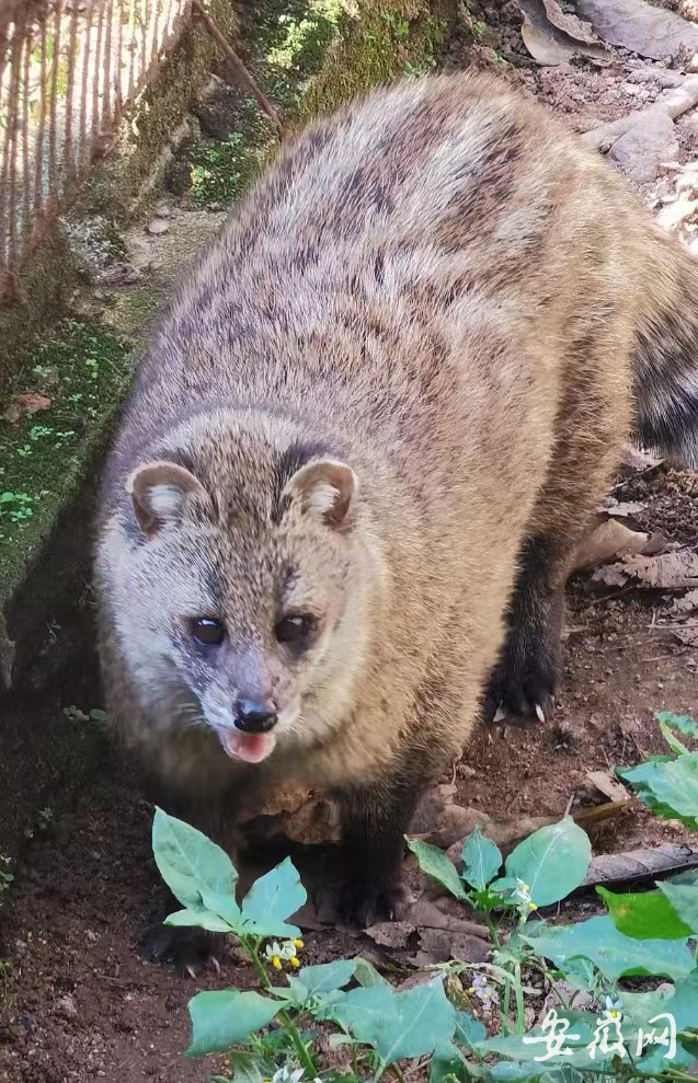
[[(484, 11), (495, 46), (522, 81), (580, 130), (638, 107), (659, 83), (629, 81), (643, 61), (618, 55), (598, 68), (586, 61), (541, 69), (518, 33), (514, 3)], [(456, 41), (447, 67), (492, 62), (487, 49)], [(634, 88), (628, 90), (628, 88)], [(643, 101), (646, 101), (643, 97)], [(682, 160), (696, 157), (698, 111), (678, 123)], [(652, 195), (646, 186), (645, 195)], [(615, 494), (640, 500), (640, 521), (677, 542), (698, 544), (698, 475), (664, 468)], [(588, 576), (570, 589), (565, 677), (557, 716), (535, 728), (480, 728), (456, 770), (457, 799), (494, 819), (561, 815), (603, 798), (591, 770), (638, 762), (662, 747), (653, 712), (698, 713), (698, 648), (679, 644), (663, 620), (666, 595), (598, 590)], [(88, 706), (88, 705), (85, 705)], [(93, 704), (89, 704), (93, 706)], [(140, 959), (138, 932), (157, 913), (158, 877), (150, 855), (152, 809), (116, 764), (94, 780), (69, 816), (26, 846), (1, 930), (0, 1080), (8, 1083), (188, 1083), (215, 1059), (186, 1061), (186, 1002), (204, 988), (244, 986), (234, 955), (196, 980)], [(642, 809), (606, 821), (595, 852), (621, 852), (685, 840), (675, 825)], [(694, 840), (695, 842), (695, 840)], [(354, 954), (365, 942), (311, 931), (306, 960)], [(375, 945), (374, 945), (375, 950)]]

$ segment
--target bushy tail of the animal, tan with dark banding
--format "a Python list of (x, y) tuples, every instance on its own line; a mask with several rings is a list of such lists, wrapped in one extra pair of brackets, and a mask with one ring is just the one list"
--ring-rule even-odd
[(698, 469), (698, 261), (665, 234), (657, 241), (644, 267), (637, 436), (643, 447)]

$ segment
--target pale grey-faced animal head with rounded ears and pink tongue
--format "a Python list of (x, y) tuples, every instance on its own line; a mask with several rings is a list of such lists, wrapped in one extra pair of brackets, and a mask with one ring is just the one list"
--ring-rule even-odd
[(341, 724), (380, 562), (341, 456), (266, 417), (179, 436), (126, 483), (117, 634), (152, 714), (259, 763)]

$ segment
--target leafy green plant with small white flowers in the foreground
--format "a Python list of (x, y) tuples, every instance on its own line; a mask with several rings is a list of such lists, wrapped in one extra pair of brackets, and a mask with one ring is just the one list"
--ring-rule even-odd
[[(618, 773), (661, 815), (695, 822), (697, 753), (676, 734), (698, 738), (698, 727), (667, 714), (659, 722), (675, 754)], [(238, 902), (229, 857), (158, 809), (156, 861), (183, 907), (168, 923), (236, 936), (260, 984), (194, 996), (187, 1056), (227, 1052), (232, 1075), (216, 1076), (218, 1083), (377, 1083), (388, 1070), (403, 1083), (404, 1068), (416, 1060), (428, 1067), (430, 1083), (695, 1079), (698, 873), (645, 894), (599, 888), (607, 913), (557, 925), (539, 910), (580, 886), (591, 856), (588, 838), (569, 816), (534, 832), (505, 861), (479, 827), (465, 840), (458, 868), (436, 846), (409, 845), (427, 876), (482, 915), (493, 946), (487, 964), (454, 960), (431, 968), (422, 984), (396, 990), (361, 957), (301, 967), (304, 945), (290, 918), (306, 892), (290, 861)], [(548, 999), (527, 1030), (525, 998), (536, 975)], [(628, 988), (638, 978), (642, 992)], [(660, 978), (671, 987), (657, 990)], [(594, 1011), (573, 1010), (570, 990), (591, 994)], [(328, 1047), (346, 1047), (351, 1069), (329, 1067), (321, 1052)]]

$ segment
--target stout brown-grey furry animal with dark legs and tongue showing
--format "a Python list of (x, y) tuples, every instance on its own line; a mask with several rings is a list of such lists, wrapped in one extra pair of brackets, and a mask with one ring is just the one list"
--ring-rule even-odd
[(103, 482), (108, 712), (170, 799), (225, 841), (266, 787), (325, 787), (340, 918), (393, 914), (483, 691), (551, 710), (621, 438), (698, 460), (697, 297), (623, 181), (495, 79), (410, 80), (286, 146), (161, 320)]

